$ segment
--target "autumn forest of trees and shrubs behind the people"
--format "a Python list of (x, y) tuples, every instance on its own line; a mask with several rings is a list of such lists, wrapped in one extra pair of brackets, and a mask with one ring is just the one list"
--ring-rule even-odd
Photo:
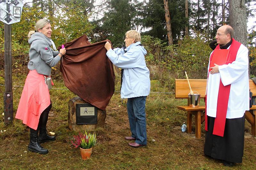
[[(246, 20), (253, 18), (255, 0), (233, 0), (244, 3)], [(13, 64), (28, 62), (28, 31), (34, 30), (40, 18), (48, 18), (53, 27), (52, 39), (56, 46), (86, 34), (91, 43), (111, 40), (114, 47), (124, 46), (125, 32), (131, 29), (141, 32), (141, 43), (148, 51), (146, 61), (160, 79), (184, 78), (187, 70), (190, 78), (206, 78), (208, 46), (217, 29), (229, 23), (229, 4), (226, 0), (169, 0), (168, 10), (172, 43), (166, 24), (166, 0), (32, 0), (24, 4), (20, 22), (12, 24)], [(187, 6), (186, 6), (187, 5)], [(187, 12), (187, 14), (186, 14)], [(167, 26), (166, 26), (167, 25)], [(250, 74), (255, 71), (255, 25), (247, 32), (246, 43), (250, 55)], [(246, 29), (245, 29), (246, 30)], [(236, 37), (235, 37), (236, 38)], [(238, 39), (239, 40), (239, 39)], [(0, 23), (0, 52), (4, 54), (4, 24)], [(1, 62), (1, 69), (4, 63)], [(173, 85), (173, 83), (172, 83)], [(168, 87), (172, 89), (169, 83)]]

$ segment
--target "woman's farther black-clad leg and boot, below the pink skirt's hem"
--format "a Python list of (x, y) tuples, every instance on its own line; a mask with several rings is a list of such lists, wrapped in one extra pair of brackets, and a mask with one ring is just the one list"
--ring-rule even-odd
[(42, 112), (40, 119), (39, 119), (39, 137), (38, 141), (40, 144), (45, 143), (45, 142), (50, 142), (54, 141), (56, 138), (55, 136), (49, 136), (48, 132), (46, 130), (46, 124), (48, 120), (48, 115), (49, 112), (52, 108), (52, 102), (51, 104)]

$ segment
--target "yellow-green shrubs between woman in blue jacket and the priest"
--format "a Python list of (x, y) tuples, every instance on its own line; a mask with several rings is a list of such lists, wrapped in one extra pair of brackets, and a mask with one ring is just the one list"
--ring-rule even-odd
[(178, 44), (168, 46), (158, 38), (142, 36), (141, 44), (147, 50), (145, 56), (150, 70), (150, 79), (159, 80), (169, 90), (174, 88), (174, 79), (206, 79), (209, 56), (212, 49), (204, 35), (185, 37)]

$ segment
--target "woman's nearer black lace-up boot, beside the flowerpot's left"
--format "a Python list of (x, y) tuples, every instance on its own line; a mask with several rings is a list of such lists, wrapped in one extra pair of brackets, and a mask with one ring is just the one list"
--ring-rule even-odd
[(48, 149), (44, 149), (38, 142), (37, 139), (38, 130), (30, 128), (30, 142), (28, 145), (28, 150), (31, 152), (36, 152), (40, 154), (48, 153)]

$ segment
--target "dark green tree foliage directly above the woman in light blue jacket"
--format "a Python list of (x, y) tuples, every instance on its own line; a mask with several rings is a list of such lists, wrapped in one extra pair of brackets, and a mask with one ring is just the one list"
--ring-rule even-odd
[(98, 20), (94, 39), (109, 39), (114, 46), (123, 46), (125, 33), (138, 29), (138, 11), (142, 3), (132, 0), (107, 1), (104, 17)]

